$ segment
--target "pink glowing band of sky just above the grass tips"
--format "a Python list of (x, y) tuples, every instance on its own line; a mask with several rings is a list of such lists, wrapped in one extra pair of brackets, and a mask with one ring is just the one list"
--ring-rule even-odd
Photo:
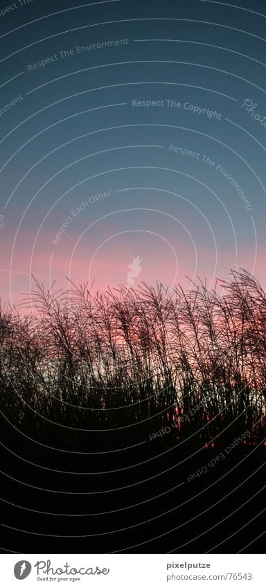
[[(127, 242), (121, 235), (99, 241), (93, 247), (88, 247), (85, 240), (80, 240), (76, 249), (75, 242), (69, 242), (65, 238), (57, 246), (50, 245), (54, 234), (48, 231), (42, 234), (35, 250), (32, 240), (28, 238), (28, 247), (25, 240), (17, 241), (17, 247), (12, 256), (12, 269), (10, 273), (10, 250), (3, 251), (0, 268), (0, 285), (2, 302), (17, 304), (21, 300), (22, 292), (30, 291), (30, 273), (37, 280), (44, 283), (45, 287), (55, 280), (55, 289), (67, 288), (68, 276), (74, 283), (94, 281), (94, 289), (105, 290), (107, 287), (117, 287), (119, 284), (127, 285), (127, 272), (129, 264), (134, 257), (139, 256), (141, 268), (134, 278), (134, 287), (145, 281), (154, 284), (156, 280), (172, 287), (181, 283), (185, 288), (189, 287), (189, 278), (197, 279), (199, 275), (203, 280), (206, 277), (208, 285), (214, 285), (215, 278), (227, 278), (230, 268), (236, 264), (252, 271), (265, 287), (265, 253), (258, 251), (255, 254), (249, 248), (243, 247), (236, 259), (234, 251), (218, 251), (217, 266), (215, 267), (215, 249), (204, 249), (197, 246), (197, 259), (193, 244), (188, 239), (182, 238), (179, 247), (173, 247), (170, 242), (160, 235), (151, 232), (131, 233), (131, 239)], [(124, 237), (124, 235), (123, 235)], [(21, 240), (22, 241), (22, 240)], [(31, 246), (30, 246), (31, 242)], [(46, 248), (44, 249), (44, 243)], [(20, 247), (19, 247), (20, 245)], [(32, 265), (30, 257), (33, 251)], [(31, 280), (33, 287), (33, 280)], [(12, 294), (11, 294), (12, 293)]]

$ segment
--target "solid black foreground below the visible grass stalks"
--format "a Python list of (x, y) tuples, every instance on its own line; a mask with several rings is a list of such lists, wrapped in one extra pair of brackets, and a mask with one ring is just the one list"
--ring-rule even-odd
[(95, 455), (94, 434), (51, 429), (64, 451), (1, 420), (1, 553), (265, 553), (263, 443), (221, 434), (198, 451), (170, 431), (116, 451), (110, 434)]

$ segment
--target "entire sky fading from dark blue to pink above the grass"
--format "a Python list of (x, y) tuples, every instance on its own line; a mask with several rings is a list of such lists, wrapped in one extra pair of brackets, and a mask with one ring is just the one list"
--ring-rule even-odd
[(265, 287), (263, 2), (6, 1), (1, 301), (32, 276)]

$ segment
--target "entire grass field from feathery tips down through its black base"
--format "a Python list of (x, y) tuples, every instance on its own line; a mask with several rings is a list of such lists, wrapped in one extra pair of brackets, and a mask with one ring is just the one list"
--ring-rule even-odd
[[(265, 465), (266, 296), (247, 271), (231, 271), (211, 291), (200, 281), (188, 292), (143, 283), (93, 296), (86, 285), (46, 292), (35, 282), (19, 308), (1, 308), (0, 351), (2, 469), (30, 481), (21, 499), (24, 508), (47, 513), (38, 515), (44, 535), (52, 509), (62, 517), (73, 513), (71, 536), (81, 530), (87, 537), (75, 518), (86, 511), (94, 537), (88, 552), (130, 551), (140, 542), (136, 521), (166, 513), (164, 528), (172, 528), (184, 503), (189, 517), (214, 508), (218, 521), (241, 500), (253, 512), (250, 500), (261, 490)], [(9, 485), (8, 498), (17, 504)], [(31, 490), (36, 487), (44, 491)], [(230, 492), (229, 506), (210, 507)], [(74, 502), (71, 493), (89, 499)], [(24, 514), (20, 527), (35, 532), (33, 513), (26, 520)], [(17, 515), (15, 509), (9, 519), (16, 525)], [(171, 551), (185, 538), (192, 542), (185, 551), (205, 553), (214, 535), (205, 544), (190, 540), (198, 521), (187, 529), (189, 517), (179, 508), (182, 533), (167, 532), (163, 547), (154, 543), (156, 524), (149, 524), (143, 535), (152, 541), (149, 549)], [(69, 519), (62, 520), (58, 531), (65, 535)], [(123, 525), (133, 535), (116, 531)], [(101, 533), (105, 539), (97, 544)], [(79, 553), (84, 544), (62, 549)], [(230, 542), (228, 549), (236, 552)], [(139, 548), (147, 550), (147, 544)]]

